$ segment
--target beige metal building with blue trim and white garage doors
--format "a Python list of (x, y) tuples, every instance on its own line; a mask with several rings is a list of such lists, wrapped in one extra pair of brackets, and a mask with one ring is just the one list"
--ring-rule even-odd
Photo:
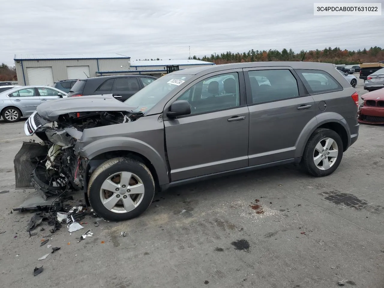
[(14, 57), (19, 85), (52, 85), (66, 79), (111, 74), (147, 74), (160, 77), (166, 66), (179, 65), (180, 70), (215, 65), (200, 60), (131, 61), (120, 54), (20, 55)]

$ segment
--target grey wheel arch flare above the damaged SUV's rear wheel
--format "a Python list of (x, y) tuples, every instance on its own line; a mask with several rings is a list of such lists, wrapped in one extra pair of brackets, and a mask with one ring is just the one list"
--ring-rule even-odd
[(347, 124), (347, 121), (338, 113), (334, 112), (324, 112), (316, 117), (312, 118), (311, 121), (309, 121), (306, 126), (304, 127), (303, 131), (301, 131), (300, 136), (298, 137), (296, 141), (296, 150), (295, 150), (295, 157), (301, 157), (303, 156), (305, 146), (308, 142), (308, 139), (311, 137), (312, 133), (321, 125), (326, 123), (338, 123), (345, 129), (347, 135), (348, 135), (348, 146), (350, 145), (351, 141), (351, 131), (349, 129), (349, 126)]

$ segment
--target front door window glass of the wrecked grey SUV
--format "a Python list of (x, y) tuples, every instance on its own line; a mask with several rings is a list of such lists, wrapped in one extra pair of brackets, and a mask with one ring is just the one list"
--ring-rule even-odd
[(177, 100), (187, 100), (191, 114), (210, 113), (240, 106), (236, 72), (206, 78), (189, 88)]

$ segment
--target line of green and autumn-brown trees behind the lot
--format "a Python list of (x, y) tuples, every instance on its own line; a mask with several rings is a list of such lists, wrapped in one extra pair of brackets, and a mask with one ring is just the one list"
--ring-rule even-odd
[(204, 56), (199, 58), (197, 56), (189, 57), (189, 59), (202, 60), (208, 62), (215, 62), (216, 64), (226, 63), (238, 63), (238, 62), (258, 62), (258, 61), (312, 61), (312, 62), (324, 62), (333, 64), (361, 64), (371, 63), (384, 60), (384, 49), (381, 47), (371, 47), (368, 50), (350, 51), (347, 49), (341, 50), (340, 47), (324, 48), (323, 50), (301, 50), (296, 53), (292, 49), (279, 50), (248, 50), (243, 53), (233, 53), (227, 51), (221, 54), (211, 54), (210, 56)]

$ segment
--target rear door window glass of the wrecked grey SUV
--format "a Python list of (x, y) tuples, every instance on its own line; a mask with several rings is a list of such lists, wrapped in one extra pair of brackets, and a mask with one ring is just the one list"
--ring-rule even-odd
[(248, 71), (252, 103), (260, 104), (299, 96), (296, 78), (290, 70)]

